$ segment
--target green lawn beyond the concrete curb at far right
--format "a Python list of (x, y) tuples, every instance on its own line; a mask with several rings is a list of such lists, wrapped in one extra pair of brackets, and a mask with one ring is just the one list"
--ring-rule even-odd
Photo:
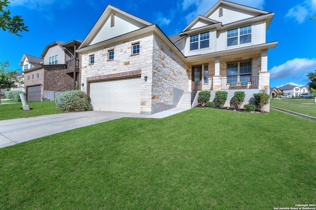
[(316, 117), (315, 99), (275, 98), (270, 100), (270, 105)]

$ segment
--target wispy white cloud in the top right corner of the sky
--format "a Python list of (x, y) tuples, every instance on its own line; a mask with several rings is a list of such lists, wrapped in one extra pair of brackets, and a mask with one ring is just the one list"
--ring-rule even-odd
[(316, 12), (316, 0), (305, 0), (303, 3), (290, 8), (285, 15), (285, 19), (294, 19), (299, 24), (308, 20)]

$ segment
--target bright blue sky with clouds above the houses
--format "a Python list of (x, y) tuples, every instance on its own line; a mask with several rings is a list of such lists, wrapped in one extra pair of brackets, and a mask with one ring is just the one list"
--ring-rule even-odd
[[(288, 83), (306, 85), (306, 76), (316, 69), (316, 0), (231, 0), (275, 12), (267, 42), (278, 41), (269, 50), (270, 87)], [(0, 30), (0, 61), (11, 69), (23, 54), (40, 57), (47, 44), (84, 39), (108, 4), (156, 23), (169, 36), (183, 30), (197, 15), (204, 15), (218, 0), (14, 0), (8, 9), (21, 15), (30, 31), (16, 38)], [(19, 70), (19, 71), (20, 71)]]

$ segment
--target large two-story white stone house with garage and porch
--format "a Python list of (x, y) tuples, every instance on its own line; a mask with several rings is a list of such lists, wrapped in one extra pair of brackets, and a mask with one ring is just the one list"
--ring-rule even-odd
[[(266, 43), (274, 13), (218, 1), (180, 33), (167, 37), (156, 24), (108, 5), (83, 40), (81, 90), (94, 110), (153, 114), (176, 107), (198, 90), (269, 91)], [(269, 92), (268, 92), (269, 93)], [(269, 111), (267, 106), (266, 111)]]

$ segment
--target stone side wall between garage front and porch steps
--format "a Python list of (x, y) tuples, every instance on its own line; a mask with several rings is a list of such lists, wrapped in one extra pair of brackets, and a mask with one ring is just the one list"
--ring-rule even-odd
[(176, 107), (182, 93), (188, 91), (187, 66), (154, 35), (152, 74), (152, 113)]

